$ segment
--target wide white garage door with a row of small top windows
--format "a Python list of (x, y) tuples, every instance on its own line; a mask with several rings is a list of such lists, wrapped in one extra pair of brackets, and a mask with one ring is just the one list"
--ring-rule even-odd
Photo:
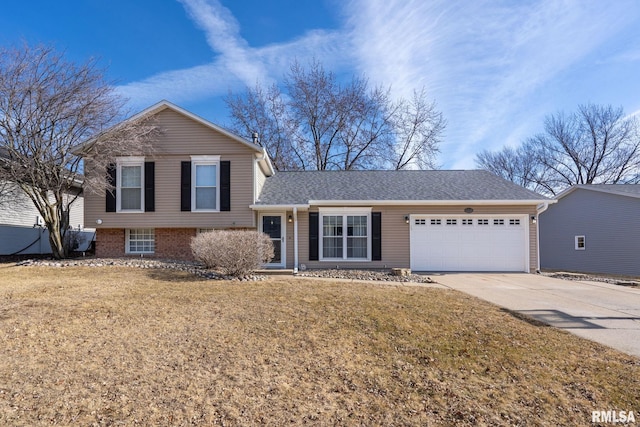
[(528, 271), (528, 217), (411, 215), (414, 271)]

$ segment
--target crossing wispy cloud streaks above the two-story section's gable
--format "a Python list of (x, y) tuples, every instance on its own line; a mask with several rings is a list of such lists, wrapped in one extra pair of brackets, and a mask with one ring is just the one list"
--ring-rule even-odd
[(204, 31), (215, 54), (209, 64), (163, 72), (142, 81), (118, 87), (134, 108), (144, 108), (160, 99), (196, 101), (224, 96), (229, 89), (280, 79), (294, 59), (307, 62), (315, 57), (327, 67), (347, 57), (338, 32), (315, 30), (282, 44), (252, 48), (240, 36), (239, 25), (218, 0), (179, 0), (195, 25)]

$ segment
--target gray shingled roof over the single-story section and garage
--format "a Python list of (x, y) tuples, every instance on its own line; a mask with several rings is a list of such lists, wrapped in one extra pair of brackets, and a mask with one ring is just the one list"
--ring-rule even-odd
[(304, 205), (310, 200), (468, 201), (549, 200), (481, 170), (277, 172), (257, 205)]

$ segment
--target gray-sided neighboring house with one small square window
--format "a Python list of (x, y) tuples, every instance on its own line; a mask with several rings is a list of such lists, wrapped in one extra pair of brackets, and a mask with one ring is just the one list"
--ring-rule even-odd
[(540, 216), (541, 266), (640, 276), (640, 184), (574, 185)]

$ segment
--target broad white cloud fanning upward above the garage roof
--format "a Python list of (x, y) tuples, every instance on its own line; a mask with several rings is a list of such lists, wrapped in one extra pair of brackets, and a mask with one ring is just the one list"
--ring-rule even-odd
[(455, 143), (443, 147), (443, 160), (473, 167), (476, 151), (514, 137), (510, 126), (517, 134), (532, 127), (509, 123), (514, 115), (539, 120), (543, 107), (528, 99), (628, 24), (627, 6), (352, 0), (347, 10), (362, 71), (403, 96), (425, 86), (449, 121), (446, 140)]

